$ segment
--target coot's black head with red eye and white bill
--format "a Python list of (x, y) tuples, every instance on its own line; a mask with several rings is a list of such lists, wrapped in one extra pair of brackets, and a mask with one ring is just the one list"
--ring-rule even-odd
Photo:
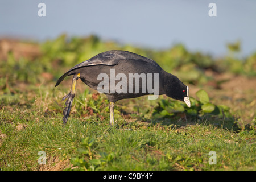
[(164, 84), (164, 92), (168, 97), (185, 102), (190, 107), (190, 100), (188, 97), (188, 86), (183, 84), (176, 76), (168, 79)]

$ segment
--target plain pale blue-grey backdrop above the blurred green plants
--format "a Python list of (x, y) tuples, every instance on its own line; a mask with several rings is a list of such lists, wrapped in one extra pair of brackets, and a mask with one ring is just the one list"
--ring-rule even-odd
[[(46, 17), (38, 16), (41, 2)], [(211, 2), (216, 17), (208, 15)], [(41, 41), (63, 33), (156, 49), (183, 43), (213, 56), (225, 55), (226, 43), (240, 40), (246, 56), (256, 51), (256, 1), (0, 1), (0, 37)]]

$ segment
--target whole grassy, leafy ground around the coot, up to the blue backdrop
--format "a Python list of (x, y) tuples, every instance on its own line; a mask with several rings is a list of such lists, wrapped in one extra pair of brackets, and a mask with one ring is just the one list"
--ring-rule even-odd
[[(0, 170), (256, 169), (256, 53), (216, 60), (182, 44), (156, 51), (65, 35), (32, 44), (40, 50), (32, 57), (11, 46), (0, 60)], [(191, 108), (166, 96), (122, 100), (110, 127), (106, 97), (78, 80), (63, 127), (61, 99), (71, 80), (53, 89), (57, 78), (110, 49), (150, 57), (178, 76), (189, 85)], [(40, 151), (46, 165), (38, 163)], [(216, 164), (209, 164), (210, 151)]]

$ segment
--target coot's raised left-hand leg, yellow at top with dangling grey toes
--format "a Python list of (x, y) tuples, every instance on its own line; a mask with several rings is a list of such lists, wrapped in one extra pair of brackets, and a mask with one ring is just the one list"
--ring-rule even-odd
[(73, 99), (74, 99), (75, 93), (76, 93), (76, 81), (77, 81), (78, 78), (80, 78), (80, 73), (73, 76), (71, 90), (70, 90), (69, 94), (67, 94), (67, 96), (64, 96), (63, 99), (62, 99), (62, 101), (64, 101), (65, 99), (68, 98), (68, 100), (65, 103), (66, 107), (63, 110), (63, 125), (64, 126), (68, 121), (68, 116), (69, 116), (71, 106), (72, 106), (72, 103), (73, 103)]

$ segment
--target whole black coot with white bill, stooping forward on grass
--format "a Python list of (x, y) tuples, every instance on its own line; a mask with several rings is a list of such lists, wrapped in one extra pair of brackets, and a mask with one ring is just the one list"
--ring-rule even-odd
[[(100, 75), (101, 74), (101, 75)], [(113, 76), (114, 74), (114, 76)], [(164, 71), (154, 60), (128, 51), (106, 51), (69, 69), (57, 80), (58, 86), (66, 76), (73, 76), (71, 92), (63, 97), (67, 99), (63, 123), (67, 123), (73, 98), (75, 97), (76, 80), (80, 78), (86, 85), (106, 94), (110, 101), (110, 124), (114, 124), (114, 103), (124, 98), (135, 98), (143, 95), (166, 94), (168, 97), (184, 101), (190, 107), (188, 86), (176, 76)], [(104, 79), (104, 77), (109, 79)], [(119, 77), (118, 77), (119, 76)], [(136, 78), (138, 78), (136, 80)], [(102, 81), (105, 85), (102, 85)], [(113, 90), (115, 89), (115, 90)]]

